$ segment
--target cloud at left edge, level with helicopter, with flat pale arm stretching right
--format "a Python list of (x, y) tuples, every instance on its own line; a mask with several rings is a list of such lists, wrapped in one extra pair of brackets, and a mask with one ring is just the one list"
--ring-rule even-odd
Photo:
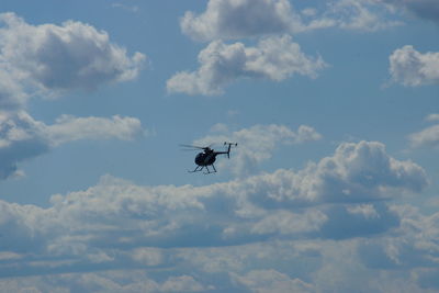
[(142, 134), (134, 117), (61, 116), (53, 125), (35, 121), (24, 111), (0, 113), (0, 179), (18, 173), (20, 161), (77, 139), (133, 139)]

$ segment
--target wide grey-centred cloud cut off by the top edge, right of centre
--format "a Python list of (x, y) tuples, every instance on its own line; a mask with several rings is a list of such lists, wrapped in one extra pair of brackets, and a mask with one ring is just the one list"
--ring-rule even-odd
[(288, 0), (210, 0), (200, 14), (185, 12), (180, 25), (193, 40), (234, 40), (326, 27), (376, 31), (401, 24), (386, 20), (387, 13), (376, 1), (331, 1), (322, 11), (295, 11)]

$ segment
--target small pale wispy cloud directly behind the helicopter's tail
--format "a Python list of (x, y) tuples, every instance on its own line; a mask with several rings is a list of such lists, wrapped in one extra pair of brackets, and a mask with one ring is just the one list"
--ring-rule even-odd
[[(243, 176), (255, 172), (258, 165), (270, 159), (278, 145), (299, 145), (315, 142), (322, 135), (313, 127), (300, 125), (297, 131), (292, 131), (285, 125), (254, 125), (236, 132), (228, 131), (224, 124), (216, 124), (212, 134), (196, 139), (195, 145), (211, 145), (217, 142), (239, 142), (239, 147), (234, 149), (235, 174)], [(219, 162), (221, 164), (221, 162)], [(221, 164), (221, 168), (227, 166)]]

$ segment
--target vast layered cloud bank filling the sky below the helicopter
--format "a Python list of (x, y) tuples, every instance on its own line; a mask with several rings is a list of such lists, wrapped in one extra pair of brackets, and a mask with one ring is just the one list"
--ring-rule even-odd
[[(416, 282), (431, 281), (421, 269), (435, 262), (438, 217), (383, 199), (416, 194), (426, 183), (416, 164), (396, 160), (380, 143), (360, 142), (341, 144), (299, 171), (203, 187), (138, 185), (105, 176), (89, 189), (53, 195), (47, 207), (0, 201), (0, 285), (314, 292), (327, 289), (334, 274), (363, 277), (384, 266), (373, 251), (397, 264), (415, 249), (417, 289)], [(337, 284), (358, 285), (348, 280)]]

